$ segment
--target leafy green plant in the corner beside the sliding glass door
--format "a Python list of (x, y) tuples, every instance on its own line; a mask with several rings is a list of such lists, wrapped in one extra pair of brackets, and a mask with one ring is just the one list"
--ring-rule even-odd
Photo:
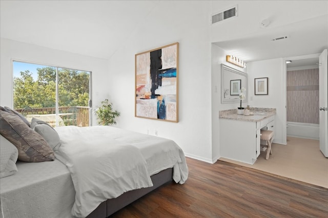
[(112, 103), (105, 99), (101, 102), (101, 106), (95, 110), (95, 114), (100, 125), (109, 126), (115, 125), (115, 118), (120, 115), (120, 113), (113, 109)]

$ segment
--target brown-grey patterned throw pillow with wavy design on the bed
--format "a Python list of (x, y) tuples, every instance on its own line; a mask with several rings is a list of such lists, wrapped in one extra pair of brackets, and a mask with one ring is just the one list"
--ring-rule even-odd
[(48, 142), (15, 114), (0, 110), (0, 134), (18, 149), (18, 160), (43, 162), (55, 159)]

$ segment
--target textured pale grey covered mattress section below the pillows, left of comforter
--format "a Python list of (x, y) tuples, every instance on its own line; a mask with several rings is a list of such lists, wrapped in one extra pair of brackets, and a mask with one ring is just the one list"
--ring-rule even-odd
[(71, 217), (75, 190), (63, 163), (17, 161), (16, 166), (18, 172), (0, 180), (5, 218)]

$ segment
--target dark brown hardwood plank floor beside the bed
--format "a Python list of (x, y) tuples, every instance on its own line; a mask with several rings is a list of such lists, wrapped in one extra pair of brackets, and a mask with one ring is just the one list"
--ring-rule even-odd
[(224, 161), (187, 158), (189, 178), (111, 217), (328, 217), (328, 189)]

